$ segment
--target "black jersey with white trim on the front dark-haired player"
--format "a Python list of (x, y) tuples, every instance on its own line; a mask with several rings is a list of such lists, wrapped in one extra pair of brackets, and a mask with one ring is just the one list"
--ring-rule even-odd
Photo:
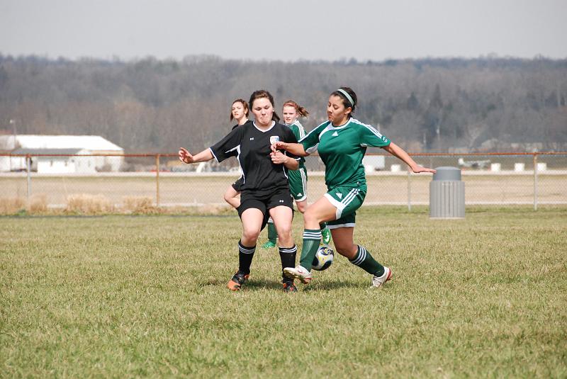
[[(245, 123), (233, 129), (226, 137), (210, 147), (218, 162), (236, 157), (242, 170), (244, 183), (241, 191), (274, 191), (288, 187), (287, 169), (283, 164), (271, 162), (271, 144), (275, 141), (296, 143), (290, 128), (272, 123), (269, 130), (259, 130), (254, 123)], [(290, 153), (284, 154), (292, 156)]]

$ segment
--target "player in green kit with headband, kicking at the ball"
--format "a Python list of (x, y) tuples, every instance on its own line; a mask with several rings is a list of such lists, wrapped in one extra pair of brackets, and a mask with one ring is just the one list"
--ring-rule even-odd
[(371, 125), (352, 117), (357, 106), (357, 94), (349, 87), (333, 91), (327, 103), (328, 121), (311, 130), (299, 143), (276, 142), (272, 149), (285, 149), (305, 157), (318, 150), (325, 164), (327, 193), (308, 206), (303, 214), (303, 247), (300, 264), (285, 268), (283, 274), (310, 283), (313, 257), (321, 240), (320, 222), (327, 221), (335, 249), (349, 261), (372, 274), (372, 286), (379, 288), (390, 280), (392, 270), (379, 264), (364, 247), (354, 244), (353, 232), (356, 210), (366, 196), (366, 177), (362, 158), (366, 147), (381, 147), (410, 166), (415, 173), (430, 172), (414, 162), (401, 147), (395, 145)]

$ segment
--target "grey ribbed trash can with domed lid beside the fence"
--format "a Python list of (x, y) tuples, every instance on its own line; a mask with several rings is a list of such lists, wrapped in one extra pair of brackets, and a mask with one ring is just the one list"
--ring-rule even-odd
[(430, 182), (430, 218), (465, 217), (465, 183), (456, 167), (437, 167)]

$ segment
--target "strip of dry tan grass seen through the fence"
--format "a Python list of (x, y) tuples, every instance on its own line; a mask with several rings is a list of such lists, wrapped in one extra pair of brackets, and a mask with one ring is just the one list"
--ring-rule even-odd
[[(408, 191), (412, 205), (429, 203), (431, 175), (389, 175), (376, 173), (366, 177), (368, 193), (364, 205), (407, 205)], [(237, 178), (230, 176), (160, 176), (160, 205), (179, 205), (195, 208), (202, 204), (224, 204), (223, 194), (229, 183)], [(510, 205), (533, 203), (534, 177), (508, 174), (464, 174), (466, 205), (493, 203)], [(408, 181), (409, 180), (409, 181)], [(537, 179), (537, 201), (565, 203), (567, 174), (542, 174)], [(152, 177), (52, 177), (33, 179), (33, 188), (47, 194), (48, 205), (64, 208), (67, 196), (73, 193), (102, 194), (122, 208), (126, 196), (156, 197), (155, 178)], [(327, 192), (322, 176), (309, 173), (308, 202), (313, 203)], [(0, 196), (26, 194), (26, 182), (19, 178), (0, 176)]]

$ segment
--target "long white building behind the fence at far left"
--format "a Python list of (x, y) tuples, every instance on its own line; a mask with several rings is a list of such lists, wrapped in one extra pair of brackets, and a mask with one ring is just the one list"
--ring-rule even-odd
[(0, 135), (0, 152), (18, 155), (0, 156), (0, 171), (26, 170), (26, 156), (32, 171), (50, 174), (118, 171), (124, 163), (124, 149), (98, 135)]

